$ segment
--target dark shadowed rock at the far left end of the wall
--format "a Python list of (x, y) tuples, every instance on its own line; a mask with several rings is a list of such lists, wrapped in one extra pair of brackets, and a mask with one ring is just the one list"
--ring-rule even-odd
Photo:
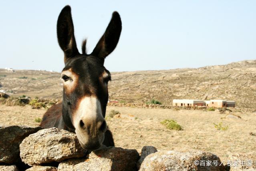
[(41, 127), (0, 126), (0, 163), (17, 163), (20, 161), (20, 143)]

